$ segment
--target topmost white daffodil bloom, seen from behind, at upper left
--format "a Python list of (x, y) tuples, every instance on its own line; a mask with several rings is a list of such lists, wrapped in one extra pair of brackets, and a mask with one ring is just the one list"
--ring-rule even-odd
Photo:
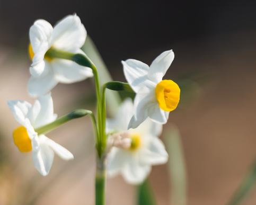
[(29, 36), (29, 54), (32, 59), (28, 83), (30, 95), (46, 94), (59, 82), (74, 83), (93, 76), (91, 68), (71, 60), (46, 56), (50, 48), (83, 54), (80, 48), (85, 42), (86, 30), (77, 15), (66, 16), (54, 28), (45, 20), (37, 20), (31, 26)]

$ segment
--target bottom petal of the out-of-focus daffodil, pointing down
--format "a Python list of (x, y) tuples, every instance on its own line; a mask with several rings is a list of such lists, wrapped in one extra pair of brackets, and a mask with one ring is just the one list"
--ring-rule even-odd
[(150, 171), (151, 166), (140, 164), (136, 158), (132, 158), (122, 169), (122, 175), (128, 183), (139, 184), (146, 179)]

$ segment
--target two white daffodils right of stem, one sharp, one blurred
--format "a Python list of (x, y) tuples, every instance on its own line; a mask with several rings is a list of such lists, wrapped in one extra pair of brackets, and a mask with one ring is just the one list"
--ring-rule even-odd
[(171, 80), (162, 80), (173, 59), (174, 53), (169, 50), (151, 66), (134, 59), (122, 61), (123, 72), (136, 96), (134, 104), (126, 100), (116, 118), (107, 120), (108, 131), (119, 134), (118, 138), (114, 135), (116, 146), (114, 139), (109, 138), (114, 145), (108, 156), (109, 176), (121, 173), (127, 182), (138, 184), (146, 179), (151, 165), (167, 162), (168, 154), (158, 137), (169, 112), (180, 100), (179, 86)]

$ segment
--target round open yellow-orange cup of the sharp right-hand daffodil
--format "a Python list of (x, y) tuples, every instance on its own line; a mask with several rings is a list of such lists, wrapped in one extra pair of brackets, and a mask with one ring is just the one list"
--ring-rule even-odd
[(176, 109), (180, 101), (179, 85), (171, 80), (163, 80), (156, 85), (156, 100), (160, 108), (170, 112)]

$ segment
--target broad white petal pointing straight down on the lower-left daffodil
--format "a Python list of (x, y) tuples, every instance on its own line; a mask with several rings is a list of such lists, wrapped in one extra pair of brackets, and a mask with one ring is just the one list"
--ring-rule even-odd
[(33, 147), (32, 158), (38, 172), (46, 176), (50, 172), (52, 162), (54, 161), (54, 151), (48, 145), (40, 144), (37, 149)]

